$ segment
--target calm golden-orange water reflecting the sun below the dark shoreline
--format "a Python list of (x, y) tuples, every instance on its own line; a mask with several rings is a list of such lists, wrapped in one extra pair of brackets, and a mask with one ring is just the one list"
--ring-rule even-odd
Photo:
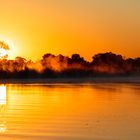
[(140, 84), (0, 85), (0, 140), (140, 140)]

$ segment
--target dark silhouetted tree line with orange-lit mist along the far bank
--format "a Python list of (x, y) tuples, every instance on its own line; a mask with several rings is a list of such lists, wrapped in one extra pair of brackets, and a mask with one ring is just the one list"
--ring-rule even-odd
[(71, 57), (44, 54), (36, 62), (16, 57), (0, 60), (0, 78), (59, 78), (140, 75), (140, 58), (124, 58), (112, 52), (99, 53), (86, 61), (79, 54)]

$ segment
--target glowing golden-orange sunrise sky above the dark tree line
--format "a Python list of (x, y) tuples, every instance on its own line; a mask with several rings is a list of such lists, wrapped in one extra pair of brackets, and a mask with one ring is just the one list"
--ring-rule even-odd
[(9, 56), (44, 53), (90, 59), (112, 51), (140, 56), (139, 0), (0, 0), (0, 40)]

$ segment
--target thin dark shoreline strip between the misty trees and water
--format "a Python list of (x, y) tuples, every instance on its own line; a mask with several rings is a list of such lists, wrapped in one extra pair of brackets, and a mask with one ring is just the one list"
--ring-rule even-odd
[(80, 83), (140, 83), (140, 76), (92, 78), (29, 78), (0, 79), (0, 84), (80, 84)]

